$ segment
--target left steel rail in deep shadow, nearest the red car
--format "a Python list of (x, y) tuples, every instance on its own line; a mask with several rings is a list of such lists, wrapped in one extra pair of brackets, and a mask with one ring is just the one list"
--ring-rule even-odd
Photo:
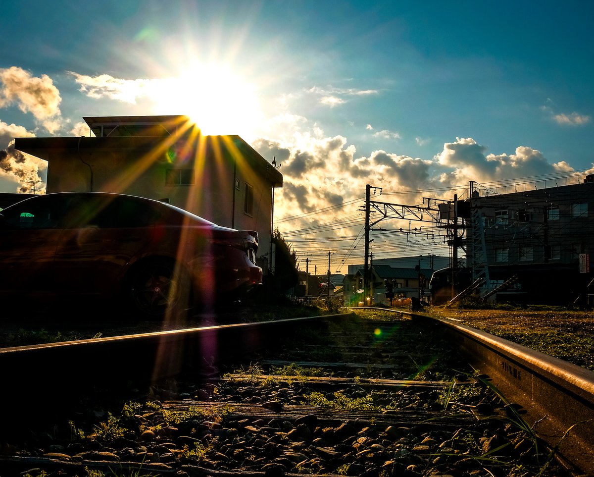
[(132, 334), (0, 349), (5, 412), (0, 434), (27, 422), (52, 421), (81, 400), (118, 390), (145, 393), (151, 385), (277, 344), (299, 327), (315, 327), (350, 314)]

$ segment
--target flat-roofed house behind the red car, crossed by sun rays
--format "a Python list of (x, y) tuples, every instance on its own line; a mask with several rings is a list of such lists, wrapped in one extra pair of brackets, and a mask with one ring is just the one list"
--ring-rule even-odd
[(267, 258), (283, 176), (241, 137), (203, 136), (185, 116), (83, 119), (94, 136), (15, 139), (15, 149), (48, 161), (48, 193), (166, 199), (216, 224), (257, 231), (258, 257)]

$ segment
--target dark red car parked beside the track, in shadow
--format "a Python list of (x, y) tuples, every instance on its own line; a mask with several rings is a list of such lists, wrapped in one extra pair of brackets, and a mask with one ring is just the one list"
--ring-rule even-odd
[(145, 316), (236, 300), (261, 284), (258, 234), (165, 202), (101, 192), (0, 211), (0, 294), (100, 296)]

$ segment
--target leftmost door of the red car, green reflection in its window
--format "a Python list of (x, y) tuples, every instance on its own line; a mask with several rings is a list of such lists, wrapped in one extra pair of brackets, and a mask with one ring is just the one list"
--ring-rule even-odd
[(62, 201), (37, 196), (0, 212), (0, 293), (52, 294)]

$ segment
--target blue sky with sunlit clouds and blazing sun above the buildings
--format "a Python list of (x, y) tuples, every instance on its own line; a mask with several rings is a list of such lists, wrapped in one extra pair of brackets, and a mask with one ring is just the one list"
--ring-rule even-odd
[[(345, 204), (366, 183), (412, 205), (463, 194), (469, 180), (584, 172), (594, 161), (593, 10), (583, 1), (8, 2), (0, 192), (45, 177), (44, 164), (15, 156), (15, 136), (88, 134), (87, 115), (188, 114), (206, 133), (239, 134), (276, 156), (277, 221), (307, 253), (309, 226), (334, 213), (359, 220), (360, 202)], [(357, 233), (330, 235), (346, 249)]]

